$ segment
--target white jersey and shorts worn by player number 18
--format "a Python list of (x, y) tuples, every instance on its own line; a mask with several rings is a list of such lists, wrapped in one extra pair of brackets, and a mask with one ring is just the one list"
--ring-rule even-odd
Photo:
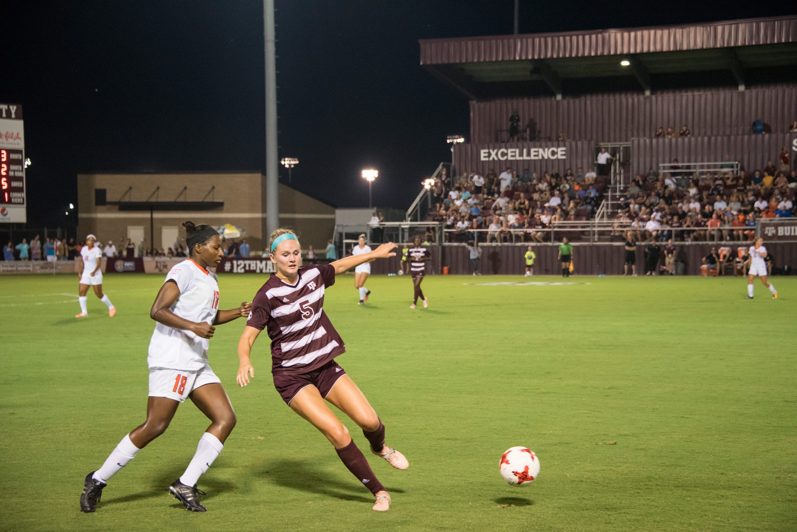
[[(166, 276), (180, 290), (180, 296), (169, 310), (192, 322), (212, 324), (218, 311), (218, 277), (193, 260), (183, 260)], [(191, 331), (155, 325), (150, 340), (147, 364), (151, 368), (199, 370), (207, 365), (210, 341)]]

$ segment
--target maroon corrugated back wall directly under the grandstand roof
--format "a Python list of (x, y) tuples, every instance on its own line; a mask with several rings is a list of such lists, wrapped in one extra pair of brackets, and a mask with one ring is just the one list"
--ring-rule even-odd
[(470, 142), (496, 142), (496, 130), (508, 129), (515, 110), (521, 127), (529, 120), (536, 124), (540, 139), (555, 139), (563, 131), (565, 139), (627, 142), (653, 137), (660, 126), (677, 130), (683, 124), (698, 137), (743, 135), (756, 119), (770, 124), (773, 132), (784, 132), (797, 119), (797, 86), (472, 101)]

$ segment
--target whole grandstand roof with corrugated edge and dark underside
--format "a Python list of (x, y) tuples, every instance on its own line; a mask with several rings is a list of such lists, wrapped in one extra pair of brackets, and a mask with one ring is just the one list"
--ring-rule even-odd
[(743, 89), (752, 80), (795, 76), (793, 68), (782, 71), (797, 65), (797, 17), (430, 39), (420, 46), (421, 65), (471, 100), (634, 88), (649, 94), (700, 86), (709, 72), (709, 85)]

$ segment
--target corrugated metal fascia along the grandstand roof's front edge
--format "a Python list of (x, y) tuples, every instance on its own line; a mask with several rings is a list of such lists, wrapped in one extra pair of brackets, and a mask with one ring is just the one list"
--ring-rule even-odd
[(797, 41), (797, 18), (420, 41), (421, 65), (674, 52)]

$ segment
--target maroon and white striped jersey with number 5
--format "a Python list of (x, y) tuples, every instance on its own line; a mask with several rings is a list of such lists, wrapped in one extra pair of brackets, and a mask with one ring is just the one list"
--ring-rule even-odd
[(324, 289), (335, 284), (335, 267), (299, 268), (296, 284), (271, 274), (252, 301), (246, 325), (271, 338), (272, 373), (304, 374), (344, 353), (343, 339), (324, 312)]

